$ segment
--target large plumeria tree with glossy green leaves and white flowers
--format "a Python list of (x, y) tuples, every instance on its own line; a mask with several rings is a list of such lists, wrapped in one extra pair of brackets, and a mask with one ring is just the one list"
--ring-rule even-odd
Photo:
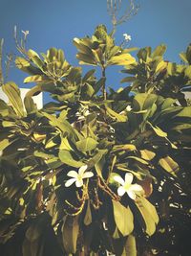
[[(190, 220), (191, 47), (181, 65), (163, 59), (164, 45), (136, 59), (103, 25), (74, 46), (99, 79), (62, 50), (39, 56), (21, 45), (15, 64), (35, 85), (24, 103), (13, 81), (2, 85), (2, 255), (180, 255), (173, 221)], [(111, 65), (126, 74), (117, 90), (106, 87)], [(37, 109), (40, 92), (53, 102)], [(161, 234), (172, 248), (158, 244)]]

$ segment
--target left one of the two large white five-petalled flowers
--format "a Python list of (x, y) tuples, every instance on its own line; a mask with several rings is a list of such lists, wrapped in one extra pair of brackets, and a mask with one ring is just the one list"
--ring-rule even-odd
[(70, 171), (67, 175), (71, 176), (69, 180), (66, 181), (65, 187), (70, 187), (74, 182), (77, 188), (83, 186), (83, 179), (87, 177), (92, 177), (94, 174), (92, 172), (85, 172), (88, 166), (83, 165), (79, 168), (78, 173), (75, 171)]

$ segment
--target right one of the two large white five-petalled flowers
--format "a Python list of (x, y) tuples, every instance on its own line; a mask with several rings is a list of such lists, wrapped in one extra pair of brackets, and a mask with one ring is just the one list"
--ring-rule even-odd
[(118, 196), (122, 197), (125, 193), (132, 198), (133, 200), (136, 199), (137, 194), (141, 194), (143, 189), (138, 184), (132, 184), (134, 176), (131, 173), (127, 173), (125, 175), (125, 180), (119, 176), (115, 175), (114, 180), (116, 180), (121, 186), (117, 189)]

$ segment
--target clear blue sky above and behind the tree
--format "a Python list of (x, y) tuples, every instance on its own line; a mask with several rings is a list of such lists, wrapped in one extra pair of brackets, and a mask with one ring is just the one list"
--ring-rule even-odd
[[(132, 35), (131, 46), (154, 48), (165, 43), (165, 58), (179, 62), (179, 53), (191, 42), (191, 0), (139, 0), (139, 4), (138, 14), (117, 28), (117, 41), (127, 33)], [(73, 38), (92, 35), (100, 23), (112, 29), (106, 0), (0, 0), (0, 7), (0, 37), (5, 39), (5, 53), (16, 53), (16, 25), (18, 32), (30, 31), (29, 48), (38, 53), (50, 47), (62, 48), (69, 62), (77, 65)], [(123, 75), (113, 75), (112, 69), (108, 75), (109, 85), (117, 88)], [(24, 86), (20, 71), (11, 68), (10, 79)]]

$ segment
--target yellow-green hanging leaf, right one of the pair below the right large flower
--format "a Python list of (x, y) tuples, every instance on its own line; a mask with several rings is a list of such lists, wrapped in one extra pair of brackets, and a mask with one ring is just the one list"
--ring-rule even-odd
[(156, 208), (146, 198), (138, 198), (136, 204), (146, 224), (145, 232), (149, 236), (152, 236), (155, 233), (156, 225), (159, 222), (159, 216)]

